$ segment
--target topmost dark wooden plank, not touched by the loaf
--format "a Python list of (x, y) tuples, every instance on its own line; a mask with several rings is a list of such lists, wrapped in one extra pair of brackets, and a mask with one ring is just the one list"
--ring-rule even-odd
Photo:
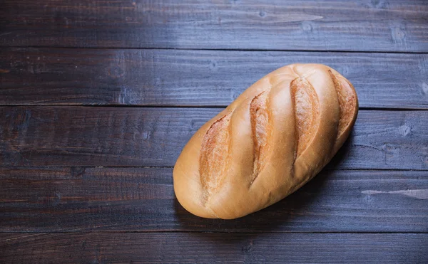
[(0, 46), (428, 51), (428, 5), (4, 0)]

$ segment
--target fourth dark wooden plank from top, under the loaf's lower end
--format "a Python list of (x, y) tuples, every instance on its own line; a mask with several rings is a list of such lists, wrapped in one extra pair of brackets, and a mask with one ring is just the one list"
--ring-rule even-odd
[(223, 221), (175, 199), (170, 168), (1, 168), (0, 231), (427, 232), (427, 171), (324, 170)]

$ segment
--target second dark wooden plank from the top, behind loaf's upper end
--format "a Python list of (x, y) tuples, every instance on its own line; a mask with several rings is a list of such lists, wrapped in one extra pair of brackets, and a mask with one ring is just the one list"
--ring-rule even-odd
[(428, 108), (428, 54), (67, 48), (2, 49), (0, 104), (226, 106), (291, 63), (339, 70), (360, 107)]

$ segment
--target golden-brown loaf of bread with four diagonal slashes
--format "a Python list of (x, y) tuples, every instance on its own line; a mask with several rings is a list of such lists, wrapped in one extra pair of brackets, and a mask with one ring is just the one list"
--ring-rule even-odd
[(275, 70), (185, 145), (173, 171), (175, 196), (205, 218), (238, 218), (270, 206), (330, 162), (357, 112), (352, 84), (332, 68)]

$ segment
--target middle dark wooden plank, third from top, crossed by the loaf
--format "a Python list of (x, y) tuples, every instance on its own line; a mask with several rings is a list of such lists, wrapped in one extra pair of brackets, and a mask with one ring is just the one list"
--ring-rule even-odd
[[(0, 164), (172, 167), (219, 108), (0, 107)], [(428, 169), (428, 111), (362, 110), (330, 168)]]

